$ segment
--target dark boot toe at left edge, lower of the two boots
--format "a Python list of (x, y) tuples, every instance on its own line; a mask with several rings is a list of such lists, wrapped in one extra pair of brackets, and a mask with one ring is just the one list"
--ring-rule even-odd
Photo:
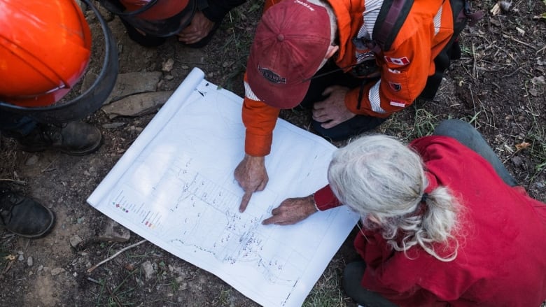
[(41, 238), (51, 231), (55, 215), (38, 202), (0, 190), (0, 225), (25, 238)]

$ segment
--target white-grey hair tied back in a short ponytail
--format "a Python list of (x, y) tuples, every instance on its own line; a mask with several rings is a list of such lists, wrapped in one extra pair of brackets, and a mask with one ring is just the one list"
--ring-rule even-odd
[(379, 227), (394, 250), (409, 258), (407, 250), (419, 245), (449, 262), (457, 257), (454, 234), (461, 206), (447, 187), (437, 187), (423, 208), (428, 186), (423, 168), (421, 157), (395, 138), (363, 136), (335, 152), (328, 180), (337, 199), (360, 214), (365, 228)]

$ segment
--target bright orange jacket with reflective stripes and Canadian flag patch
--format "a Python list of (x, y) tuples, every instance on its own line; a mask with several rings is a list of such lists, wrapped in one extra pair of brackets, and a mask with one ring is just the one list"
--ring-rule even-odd
[[(265, 9), (281, 0), (267, 0)], [(290, 0), (284, 0), (290, 1)], [(357, 50), (352, 38), (372, 34), (383, 0), (328, 0), (337, 17), (339, 67), (357, 64), (370, 50)], [(410, 106), (423, 91), (428, 76), (435, 72), (434, 58), (447, 45), (453, 34), (453, 14), (449, 1), (415, 0), (402, 24), (391, 50), (375, 56), (381, 73), (377, 82), (346, 94), (345, 105), (351, 112), (374, 117), (387, 117)], [(347, 68), (346, 71), (349, 71)], [(279, 109), (268, 106), (253, 94), (244, 76), (245, 97), (242, 120), (246, 127), (245, 152), (265, 156), (271, 150), (273, 129)], [(290, 93), (286, 93), (290, 94)]]

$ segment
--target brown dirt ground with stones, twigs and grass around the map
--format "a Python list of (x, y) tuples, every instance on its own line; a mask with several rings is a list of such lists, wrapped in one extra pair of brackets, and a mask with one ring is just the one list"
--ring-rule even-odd
[[(176, 89), (197, 66), (207, 80), (242, 96), (242, 72), (261, 3), (248, 1), (233, 10), (214, 40), (200, 50), (174, 38), (158, 48), (143, 48), (130, 41), (117, 17), (104, 16), (118, 44), (120, 73), (158, 71), (155, 91), (160, 92)], [(505, 10), (500, 12), (491, 11), (491, 0), (472, 3), (486, 15), (465, 29), (463, 58), (451, 64), (435, 101), (416, 103), (374, 132), (411, 139), (447, 118), (472, 122), (518, 183), (546, 201), (546, 19), (540, 17), (545, 3), (503, 1)], [(94, 17), (88, 21), (97, 31)], [(102, 50), (100, 44), (95, 48)], [(98, 72), (97, 63), (90, 71)], [(281, 115), (300, 127), (309, 125), (307, 113)], [(152, 117), (153, 112), (111, 118), (102, 110), (86, 117), (85, 122), (102, 130), (104, 144), (85, 157), (21, 152), (14, 141), (1, 138), (0, 183), (52, 208), (57, 224), (38, 240), (0, 230), (0, 306), (256, 306), (216, 276), (148, 242), (87, 273), (142, 240), (136, 234), (125, 242), (101, 240), (111, 220), (85, 200)], [(306, 306), (354, 306), (339, 287), (344, 264), (355, 257), (351, 238), (318, 280)]]

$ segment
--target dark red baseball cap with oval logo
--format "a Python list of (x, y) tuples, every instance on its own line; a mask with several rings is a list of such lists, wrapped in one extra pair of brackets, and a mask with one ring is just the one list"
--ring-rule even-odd
[(330, 46), (330, 17), (322, 6), (284, 0), (267, 9), (256, 28), (246, 73), (261, 101), (293, 108), (307, 94)]

